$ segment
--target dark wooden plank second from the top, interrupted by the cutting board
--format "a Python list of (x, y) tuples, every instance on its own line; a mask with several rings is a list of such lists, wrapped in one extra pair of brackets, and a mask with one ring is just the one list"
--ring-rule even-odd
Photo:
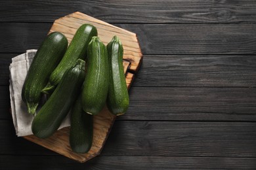
[[(255, 24), (116, 24), (137, 33), (145, 54), (256, 54)], [(0, 53), (37, 49), (51, 24), (5, 23)], [(22, 32), (22, 34), (20, 33)], [(29, 38), (28, 38), (29, 37)]]

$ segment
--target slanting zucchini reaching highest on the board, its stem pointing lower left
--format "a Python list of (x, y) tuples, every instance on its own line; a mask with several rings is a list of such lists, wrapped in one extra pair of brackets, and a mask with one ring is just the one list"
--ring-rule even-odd
[(77, 59), (85, 60), (87, 46), (91, 38), (97, 35), (96, 27), (90, 24), (83, 24), (77, 29), (64, 57), (51, 74), (47, 86), (42, 90), (43, 93), (52, 93), (65, 71), (72, 67)]

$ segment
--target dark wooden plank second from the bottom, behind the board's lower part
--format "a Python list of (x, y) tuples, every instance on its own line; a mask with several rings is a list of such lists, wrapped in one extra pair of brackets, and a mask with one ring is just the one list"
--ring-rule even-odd
[[(0, 120), (0, 127), (2, 155), (56, 155), (15, 137), (11, 121)], [(256, 158), (255, 128), (255, 122), (117, 121), (100, 155)]]

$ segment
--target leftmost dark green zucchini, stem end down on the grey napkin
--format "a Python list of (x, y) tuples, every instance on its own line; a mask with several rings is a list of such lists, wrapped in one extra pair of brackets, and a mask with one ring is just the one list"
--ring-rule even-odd
[(41, 99), (41, 90), (62, 59), (67, 46), (66, 37), (62, 33), (53, 32), (47, 36), (37, 50), (22, 87), (22, 100), (26, 103), (30, 114), (35, 113)]

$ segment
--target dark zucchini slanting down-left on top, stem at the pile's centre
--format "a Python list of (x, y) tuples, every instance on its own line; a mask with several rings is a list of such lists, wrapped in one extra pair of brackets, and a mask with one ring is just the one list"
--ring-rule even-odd
[(85, 61), (78, 59), (74, 67), (66, 71), (56, 90), (39, 110), (32, 122), (32, 132), (39, 138), (47, 138), (60, 127), (74, 104), (85, 78)]

